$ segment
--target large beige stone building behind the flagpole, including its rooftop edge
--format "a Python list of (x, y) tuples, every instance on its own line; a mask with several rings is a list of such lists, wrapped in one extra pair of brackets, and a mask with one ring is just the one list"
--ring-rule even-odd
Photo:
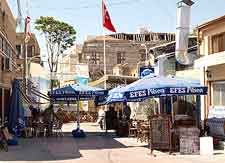
[[(172, 33), (124, 34), (105, 36), (106, 74), (137, 77), (138, 66), (150, 59), (149, 48), (175, 40)], [(89, 65), (91, 80), (104, 75), (104, 36), (84, 42), (80, 60)]]

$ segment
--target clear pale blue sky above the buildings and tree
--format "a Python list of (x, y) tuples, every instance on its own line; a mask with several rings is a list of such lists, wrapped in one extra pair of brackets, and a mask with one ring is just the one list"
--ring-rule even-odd
[[(16, 0), (8, 0), (17, 15)], [(23, 13), (26, 0), (21, 0)], [(77, 42), (86, 35), (101, 35), (101, 0), (30, 0), (30, 15), (34, 22), (40, 16), (54, 16), (77, 31)], [(135, 33), (140, 26), (148, 26), (154, 32), (175, 32), (176, 2), (178, 0), (107, 0), (107, 7), (117, 32)], [(225, 14), (225, 0), (194, 0), (191, 28), (207, 20)], [(24, 14), (25, 16), (25, 14)], [(33, 26), (33, 23), (31, 24)], [(42, 36), (38, 41), (45, 53)]]

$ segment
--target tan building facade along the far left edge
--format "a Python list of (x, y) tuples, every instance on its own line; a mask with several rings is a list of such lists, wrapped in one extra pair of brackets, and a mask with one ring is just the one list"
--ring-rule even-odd
[(8, 108), (11, 82), (15, 77), (16, 20), (7, 4), (0, 1), (0, 112), (1, 119)]

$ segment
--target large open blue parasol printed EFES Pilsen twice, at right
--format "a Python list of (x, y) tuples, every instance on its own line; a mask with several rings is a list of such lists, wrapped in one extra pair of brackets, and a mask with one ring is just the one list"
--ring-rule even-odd
[(146, 76), (127, 85), (124, 89), (124, 98), (128, 101), (166, 95), (207, 94), (207, 87), (201, 86), (196, 81), (156, 75)]

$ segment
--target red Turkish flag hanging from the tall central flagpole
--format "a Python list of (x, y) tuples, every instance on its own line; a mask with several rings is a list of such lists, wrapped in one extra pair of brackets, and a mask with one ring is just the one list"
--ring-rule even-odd
[(116, 29), (114, 28), (111, 22), (109, 12), (105, 6), (104, 0), (102, 0), (102, 20), (103, 20), (103, 27), (107, 28), (112, 32), (116, 32)]

